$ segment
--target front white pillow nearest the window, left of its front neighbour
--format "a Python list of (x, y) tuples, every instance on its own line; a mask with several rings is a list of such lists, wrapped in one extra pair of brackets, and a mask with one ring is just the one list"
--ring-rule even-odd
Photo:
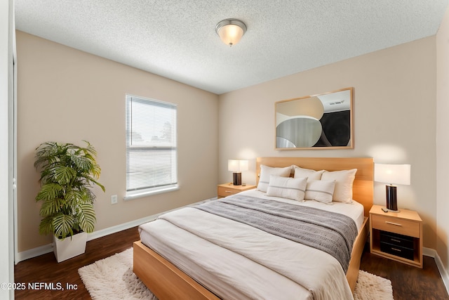
[(303, 201), (307, 178), (269, 176), (267, 196)]

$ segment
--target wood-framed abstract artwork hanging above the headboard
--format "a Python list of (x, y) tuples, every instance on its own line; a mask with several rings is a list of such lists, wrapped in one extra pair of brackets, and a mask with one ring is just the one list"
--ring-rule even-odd
[(353, 149), (354, 87), (275, 103), (276, 150)]

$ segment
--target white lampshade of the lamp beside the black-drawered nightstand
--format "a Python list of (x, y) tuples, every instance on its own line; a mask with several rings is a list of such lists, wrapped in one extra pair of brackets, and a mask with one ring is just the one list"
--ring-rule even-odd
[(410, 185), (410, 164), (374, 164), (374, 181)]

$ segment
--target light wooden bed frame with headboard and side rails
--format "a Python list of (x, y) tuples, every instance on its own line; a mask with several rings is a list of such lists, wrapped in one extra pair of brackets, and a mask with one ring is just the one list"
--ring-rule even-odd
[[(365, 157), (257, 157), (256, 184), (259, 181), (261, 164), (270, 167), (288, 167), (295, 164), (306, 169), (326, 169), (328, 171), (357, 169), (353, 185), (353, 198), (363, 204), (365, 220), (354, 242), (346, 275), (349, 286), (354, 292), (361, 254), (368, 237), (368, 212), (373, 206), (373, 159)], [(140, 241), (134, 242), (133, 270), (160, 300), (220, 299)]]

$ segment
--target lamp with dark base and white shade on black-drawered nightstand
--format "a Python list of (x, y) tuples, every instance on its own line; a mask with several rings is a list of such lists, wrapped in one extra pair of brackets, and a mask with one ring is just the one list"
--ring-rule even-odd
[(410, 185), (410, 164), (374, 164), (374, 181), (385, 185), (387, 209), (398, 212), (395, 184)]

